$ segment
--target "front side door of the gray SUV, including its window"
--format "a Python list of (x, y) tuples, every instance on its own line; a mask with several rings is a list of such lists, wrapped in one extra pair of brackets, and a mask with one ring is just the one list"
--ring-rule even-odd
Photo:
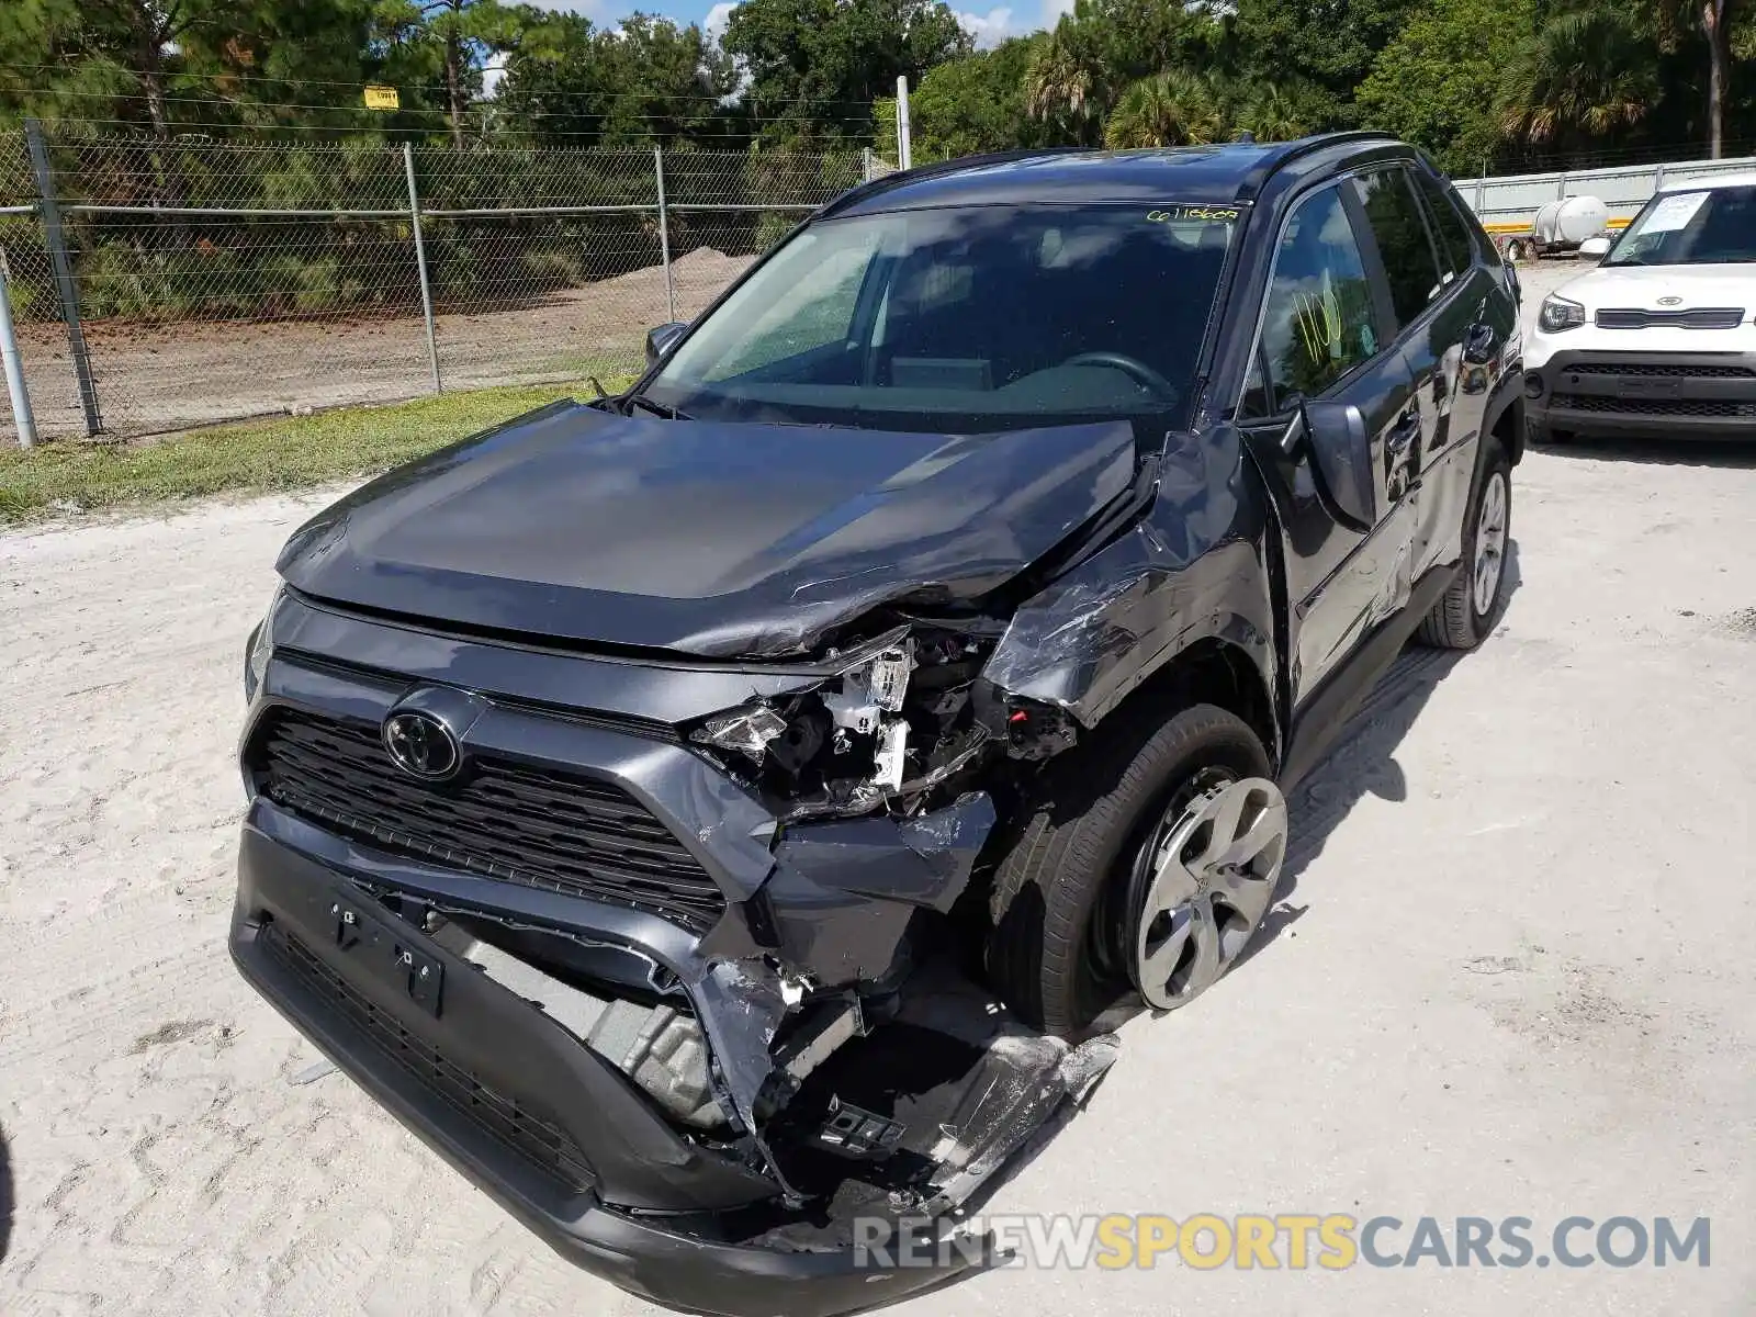
[[(1349, 183), (1294, 202), (1277, 239), (1240, 407), (1240, 428), (1285, 536), (1296, 711), (1326, 681), (1350, 680), (1349, 658), (1408, 595), (1414, 518), (1396, 455), (1414, 443), (1419, 414), (1408, 365), (1391, 348), (1394, 316), (1368, 251), (1364, 212)], [(1303, 400), (1356, 406), (1364, 421), (1352, 441), (1359, 451), (1329, 451), (1308, 439), (1287, 455), (1284, 439), (1301, 425)], [(1371, 472), (1370, 507), (1354, 518), (1333, 492), (1361, 469)]]

